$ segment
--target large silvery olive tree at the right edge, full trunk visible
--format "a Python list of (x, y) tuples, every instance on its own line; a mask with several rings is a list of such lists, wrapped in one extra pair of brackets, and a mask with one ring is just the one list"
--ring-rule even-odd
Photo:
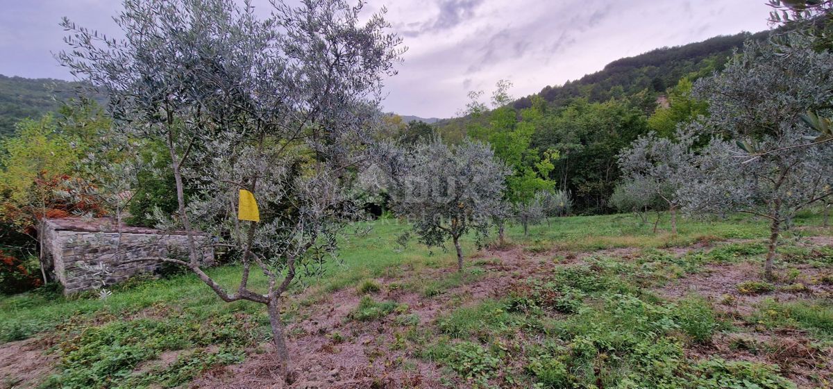
[[(697, 83), (695, 93), (709, 102), (710, 116), (689, 129), (716, 138), (678, 192), (691, 212), (746, 212), (768, 220), (766, 277), (782, 229), (796, 212), (831, 194), (831, 146), (801, 147), (814, 137), (801, 115), (830, 108), (833, 57), (812, 50), (806, 37), (788, 38), (789, 52), (748, 42), (723, 72)], [(760, 153), (749, 157), (752, 149)]]

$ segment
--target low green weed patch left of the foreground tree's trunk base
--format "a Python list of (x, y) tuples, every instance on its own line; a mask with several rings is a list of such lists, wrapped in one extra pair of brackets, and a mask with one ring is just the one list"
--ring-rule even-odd
[[(210, 367), (242, 362), (243, 348), (256, 344), (256, 324), (246, 317), (222, 315), (204, 324), (184, 317), (107, 322), (74, 333), (58, 344), (60, 372), (42, 387), (137, 387), (153, 382), (175, 387)], [(261, 334), (263, 335), (263, 334)], [(202, 347), (222, 343), (217, 352)], [(170, 367), (137, 371), (159, 353), (182, 352)]]

